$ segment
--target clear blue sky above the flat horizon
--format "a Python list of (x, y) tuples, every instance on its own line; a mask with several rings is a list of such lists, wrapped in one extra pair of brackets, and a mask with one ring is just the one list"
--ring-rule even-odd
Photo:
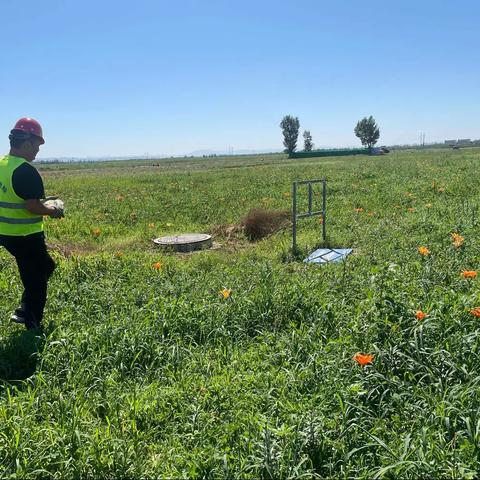
[[(42, 157), (480, 138), (480, 2), (2, 0), (0, 131)], [(300, 142), (299, 142), (300, 143)]]

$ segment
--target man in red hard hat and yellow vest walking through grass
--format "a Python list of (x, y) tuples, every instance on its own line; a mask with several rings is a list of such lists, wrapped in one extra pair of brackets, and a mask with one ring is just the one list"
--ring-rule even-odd
[(10, 320), (31, 330), (41, 326), (47, 282), (55, 269), (45, 245), (43, 216), (60, 218), (63, 211), (40, 201), (45, 198), (43, 182), (31, 165), (45, 143), (40, 124), (21, 118), (8, 138), (10, 153), (0, 158), (0, 245), (15, 257), (24, 287)]

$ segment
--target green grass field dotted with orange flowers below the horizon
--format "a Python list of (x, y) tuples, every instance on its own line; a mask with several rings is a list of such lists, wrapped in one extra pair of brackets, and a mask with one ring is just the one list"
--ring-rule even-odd
[[(43, 335), (8, 324), (21, 288), (0, 251), (0, 477), (478, 477), (480, 291), (462, 272), (480, 260), (479, 163), (463, 149), (42, 166), (67, 214), (46, 222)], [(295, 260), (288, 230), (222, 233), (324, 176), (345, 263)], [(151, 242), (188, 231), (218, 245)], [(300, 224), (303, 254), (320, 240), (318, 218)]]

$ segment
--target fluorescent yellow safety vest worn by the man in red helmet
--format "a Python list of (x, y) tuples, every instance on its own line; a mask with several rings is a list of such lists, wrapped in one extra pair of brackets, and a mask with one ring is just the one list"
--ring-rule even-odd
[(29, 212), (25, 200), (13, 190), (13, 172), (24, 162), (13, 155), (0, 158), (0, 235), (23, 237), (43, 232), (43, 217)]

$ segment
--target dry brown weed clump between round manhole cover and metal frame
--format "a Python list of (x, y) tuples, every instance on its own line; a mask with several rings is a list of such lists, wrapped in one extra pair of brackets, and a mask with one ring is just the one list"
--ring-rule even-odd
[(254, 208), (243, 218), (245, 236), (251, 240), (261, 240), (290, 225), (290, 213), (286, 210), (265, 210)]

